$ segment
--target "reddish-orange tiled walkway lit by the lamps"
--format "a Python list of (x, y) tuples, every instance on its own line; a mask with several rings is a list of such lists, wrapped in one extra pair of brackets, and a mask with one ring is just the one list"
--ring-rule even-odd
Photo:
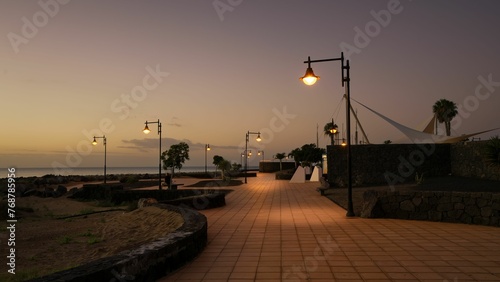
[(203, 211), (206, 249), (159, 281), (500, 281), (500, 228), (346, 218), (316, 187), (248, 178)]

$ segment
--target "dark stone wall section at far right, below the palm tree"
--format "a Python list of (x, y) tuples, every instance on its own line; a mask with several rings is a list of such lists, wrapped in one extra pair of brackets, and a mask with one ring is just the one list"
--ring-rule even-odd
[(500, 166), (486, 162), (488, 141), (457, 143), (451, 146), (453, 175), (500, 181)]

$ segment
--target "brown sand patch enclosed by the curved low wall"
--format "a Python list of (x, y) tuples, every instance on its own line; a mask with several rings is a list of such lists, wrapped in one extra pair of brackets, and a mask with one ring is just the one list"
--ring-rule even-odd
[[(184, 223), (181, 214), (157, 207), (57, 219), (110, 208), (65, 197), (18, 198), (16, 204), (22, 216), (16, 223), (18, 277), (19, 273), (46, 275), (111, 256), (161, 238)], [(33, 212), (21, 212), (20, 207), (31, 208)], [(2, 237), (7, 235), (5, 224), (2, 223)], [(8, 253), (7, 244), (2, 243), (1, 249), (2, 254)], [(2, 257), (5, 265), (6, 256)], [(1, 281), (9, 277), (5, 273), (0, 274)]]

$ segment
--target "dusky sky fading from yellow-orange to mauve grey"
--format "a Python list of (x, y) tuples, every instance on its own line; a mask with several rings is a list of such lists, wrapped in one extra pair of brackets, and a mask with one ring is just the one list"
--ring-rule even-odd
[[(209, 164), (239, 163), (249, 131), (262, 137), (249, 165), (258, 150), (325, 147), (327, 122), (346, 128), (341, 64), (313, 64), (314, 86), (299, 77), (308, 56), (341, 52), (351, 98), (401, 124), (422, 130), (445, 98), (453, 134), (497, 128), (499, 12), (495, 0), (1, 1), (0, 167), (101, 166), (103, 140), (90, 143), (104, 135), (108, 166), (155, 166), (158, 126), (142, 129), (158, 120), (162, 151), (190, 146), (185, 166), (204, 165), (206, 144)], [(352, 103), (370, 143), (408, 142)]]

